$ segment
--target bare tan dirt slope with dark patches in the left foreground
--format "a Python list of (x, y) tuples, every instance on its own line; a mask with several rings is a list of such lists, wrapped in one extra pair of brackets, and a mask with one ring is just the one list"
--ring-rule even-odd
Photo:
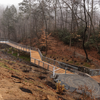
[(51, 74), (0, 52), (0, 100), (74, 100), (56, 93)]

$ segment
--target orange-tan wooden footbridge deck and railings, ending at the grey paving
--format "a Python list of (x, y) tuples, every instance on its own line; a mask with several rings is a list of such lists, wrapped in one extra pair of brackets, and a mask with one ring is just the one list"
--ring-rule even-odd
[[(49, 71), (52, 71), (53, 76), (55, 75), (55, 73), (59, 73), (59, 74), (65, 73), (65, 69), (59, 68), (58, 66), (54, 65), (55, 62), (48, 63), (48, 62), (43, 61), (42, 60), (43, 55), (38, 48), (28, 47), (28, 46), (21, 45), (16, 42), (13, 42), (10, 40), (5, 40), (5, 39), (0, 40), (0, 43), (7, 44), (7, 45), (9, 45), (13, 48), (16, 48), (18, 50), (21, 50), (21, 51), (29, 52), (30, 53), (30, 62), (33, 64), (36, 64), (38, 66), (41, 66)], [(67, 71), (67, 72), (69, 72), (69, 71)], [(71, 72), (69, 72), (69, 73), (71, 73)]]

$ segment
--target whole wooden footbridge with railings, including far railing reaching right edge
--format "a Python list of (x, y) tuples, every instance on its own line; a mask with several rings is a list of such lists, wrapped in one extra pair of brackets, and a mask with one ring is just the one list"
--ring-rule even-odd
[[(66, 74), (72, 72), (68, 71), (67, 69), (73, 69), (75, 73), (78, 71), (82, 72), (83, 74), (86, 73), (90, 76), (97, 76), (100, 75), (100, 69), (89, 69), (89, 68), (81, 68), (74, 65), (69, 65), (63, 62), (59, 62), (57, 60), (53, 60), (51, 58), (47, 58), (42, 55), (41, 51), (38, 48), (35, 47), (29, 47), (26, 45), (22, 45), (16, 42), (13, 42), (8, 39), (0, 39), (0, 43), (7, 44), (13, 48), (16, 48), (21, 51), (29, 52), (30, 53), (30, 62), (33, 64), (36, 64), (38, 66), (41, 66), (49, 71), (53, 72), (53, 76), (55, 74)], [(81, 69), (81, 70), (80, 70)]]

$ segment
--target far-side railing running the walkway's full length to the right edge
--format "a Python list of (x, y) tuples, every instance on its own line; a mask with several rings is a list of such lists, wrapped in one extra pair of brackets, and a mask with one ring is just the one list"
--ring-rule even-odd
[[(18, 46), (20, 46), (20, 47), (21, 47), (21, 50), (23, 50), (23, 51), (27, 51), (28, 49), (29, 49), (29, 51), (27, 51), (27, 52), (30, 52), (30, 50), (37, 51), (37, 52), (40, 54), (40, 57), (41, 57), (42, 61), (47, 62), (46, 64), (49, 63), (49, 64), (51, 64), (51, 65), (57, 66), (57, 67), (59, 67), (59, 68), (63, 68), (63, 69), (65, 69), (65, 70), (66, 70), (66, 68), (71, 68), (71, 69), (74, 69), (74, 70), (78, 70), (78, 71), (87, 73), (87, 74), (89, 74), (89, 75), (91, 75), (91, 76), (100, 75), (100, 69), (89, 69), (89, 68), (82, 68), (82, 67), (81, 67), (81, 70), (80, 70), (80, 67), (78, 67), (78, 66), (76, 67), (76, 66), (74, 66), (74, 65), (69, 65), (69, 64), (66, 64), (66, 63), (63, 63), (63, 62), (59, 62), (59, 61), (57, 61), (57, 60), (53, 60), (53, 59), (48, 58), (48, 57), (44, 57), (44, 56), (42, 55), (40, 49), (38, 49), (38, 48), (29, 47), (29, 46), (26, 46), (26, 45), (18, 44), (18, 43), (16, 43), (16, 42), (13, 42), (13, 41), (8, 40), (8, 39), (0, 39), (0, 41), (2, 41), (2, 42), (4, 42), (4, 43), (12, 43), (12, 44), (16, 45), (16, 47), (14, 47), (14, 48), (16, 48), (16, 49), (18, 49)], [(25, 49), (26, 49), (26, 50), (25, 50)], [(32, 58), (32, 57), (31, 57), (31, 58)], [(35, 59), (35, 58), (32, 58), (32, 59)], [(36, 59), (35, 59), (35, 60), (36, 60)], [(39, 61), (39, 60), (37, 59), (37, 61)], [(49, 65), (49, 64), (48, 64), (48, 65)], [(54, 70), (53, 73), (55, 73), (55, 70)]]

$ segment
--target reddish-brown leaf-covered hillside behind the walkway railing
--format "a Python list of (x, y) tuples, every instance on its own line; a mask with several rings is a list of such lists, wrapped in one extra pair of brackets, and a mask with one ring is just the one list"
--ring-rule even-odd
[[(38, 47), (37, 41), (38, 40), (36, 38), (33, 39), (32, 45)], [(39, 39), (39, 42), (40, 47), (45, 46), (46, 36), (42, 35)], [(28, 45), (29, 41), (27, 40), (26, 42), (24, 42), (24, 44)], [(62, 41), (52, 36), (47, 37), (47, 44), (47, 57), (49, 58), (77, 66), (85, 66), (92, 69), (100, 69), (100, 55), (98, 54), (95, 48), (87, 50), (89, 59), (91, 60), (91, 63), (87, 63), (85, 62), (85, 53), (82, 48), (74, 46), (70, 48), (68, 45), (65, 45)], [(45, 51), (42, 51), (42, 53), (45, 54)], [(100, 83), (100, 76), (94, 76), (92, 78)]]

